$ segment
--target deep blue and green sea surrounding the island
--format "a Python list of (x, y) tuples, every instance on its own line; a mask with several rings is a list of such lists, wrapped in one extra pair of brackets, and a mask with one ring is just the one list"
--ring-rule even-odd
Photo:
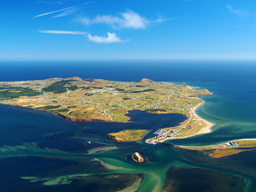
[[(256, 138), (256, 61), (0, 62), (0, 82), (74, 76), (129, 82), (150, 78), (206, 88), (213, 95), (202, 97), (205, 103), (197, 114), (214, 123), (212, 133), (172, 142), (203, 146)], [(158, 129), (184, 120), (181, 116), (150, 116), (139, 111), (129, 115), (135, 119), (129, 126), (66, 122), (45, 112), (0, 105), (1, 191), (188, 191), (188, 186), (190, 191), (256, 191), (254, 150), (212, 159), (192, 151), (170, 149), (170, 146), (149, 146), (143, 142), (116, 144), (107, 139), (106, 130), (142, 126)], [(139, 119), (143, 119), (142, 122)], [(83, 139), (77, 138), (79, 134), (83, 134)], [(102, 146), (120, 149), (85, 154)], [(127, 160), (126, 155), (134, 149), (140, 150), (148, 162), (138, 166)], [(95, 158), (102, 164), (94, 163)], [(104, 170), (102, 165), (106, 164), (118, 168)], [(126, 174), (141, 178), (141, 186), (136, 188), (134, 184), (134, 188), (126, 188), (133, 182)], [(189, 176), (184, 182), (182, 176), (178, 178), (179, 174), (196, 174), (201, 182)], [(176, 189), (168, 188), (169, 180), (175, 181)]]

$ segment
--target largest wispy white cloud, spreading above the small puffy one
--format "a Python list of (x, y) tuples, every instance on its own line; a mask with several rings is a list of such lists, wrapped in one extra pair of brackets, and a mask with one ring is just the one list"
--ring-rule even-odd
[(170, 19), (158, 19), (155, 21), (150, 21), (143, 18), (138, 13), (135, 13), (133, 10), (127, 10), (118, 16), (98, 15), (95, 18), (78, 18), (78, 22), (82, 22), (82, 24), (86, 26), (93, 24), (106, 24), (114, 29), (145, 29), (146, 26), (149, 26), (152, 22), (166, 22), (168, 20)]

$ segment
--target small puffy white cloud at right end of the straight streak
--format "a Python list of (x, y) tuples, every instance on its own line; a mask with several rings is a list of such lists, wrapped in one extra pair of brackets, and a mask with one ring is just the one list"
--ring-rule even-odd
[(117, 34), (115, 33), (107, 33), (106, 37), (97, 36), (97, 35), (91, 35), (87, 34), (87, 38), (91, 42), (98, 42), (98, 43), (113, 43), (113, 42), (124, 42), (121, 38), (118, 38)]

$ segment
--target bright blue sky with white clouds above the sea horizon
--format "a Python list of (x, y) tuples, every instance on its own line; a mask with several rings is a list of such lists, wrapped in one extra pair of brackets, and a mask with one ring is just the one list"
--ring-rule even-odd
[(255, 59), (255, 0), (5, 0), (0, 59)]

